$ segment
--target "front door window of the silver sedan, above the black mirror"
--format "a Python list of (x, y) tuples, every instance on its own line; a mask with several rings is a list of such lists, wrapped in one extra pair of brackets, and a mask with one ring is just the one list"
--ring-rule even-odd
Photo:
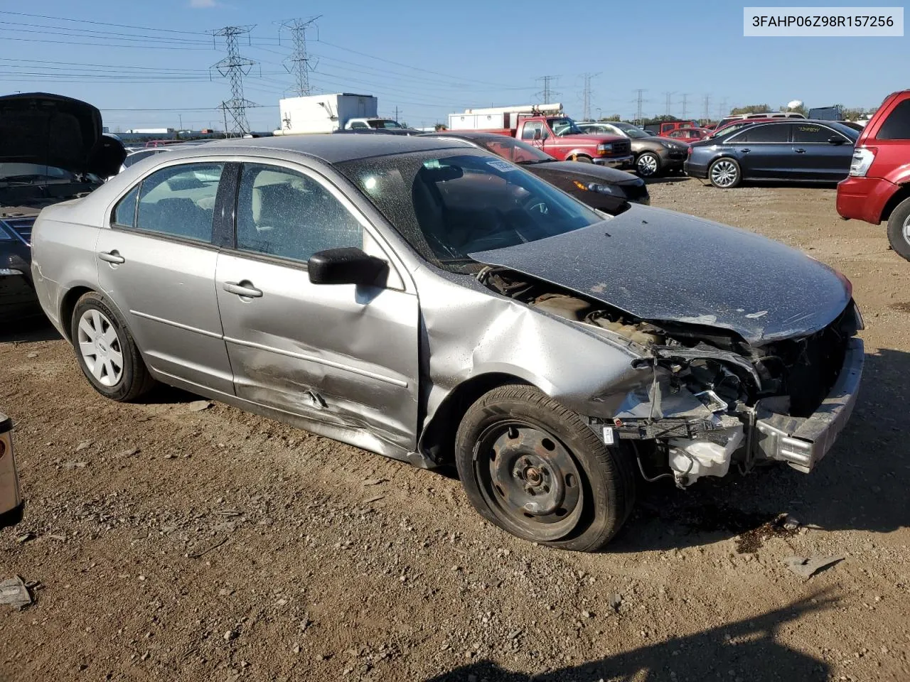
[(306, 263), (319, 251), (362, 244), (357, 218), (312, 178), (276, 165), (243, 165), (238, 249)]

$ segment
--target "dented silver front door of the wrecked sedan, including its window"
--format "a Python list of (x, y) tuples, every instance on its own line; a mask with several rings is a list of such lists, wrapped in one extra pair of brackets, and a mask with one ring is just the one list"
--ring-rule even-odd
[(366, 220), (324, 178), (244, 164), (237, 248), (217, 260), (217, 297), (237, 395), (330, 425), (369, 427), (413, 450), (417, 429), (415, 293), (314, 285), (309, 256), (343, 246), (388, 260)]

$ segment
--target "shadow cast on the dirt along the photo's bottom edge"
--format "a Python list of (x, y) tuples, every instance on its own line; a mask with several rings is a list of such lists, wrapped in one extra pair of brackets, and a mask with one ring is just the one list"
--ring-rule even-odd
[(430, 677), (424, 682), (594, 682), (607, 679), (616, 682), (701, 682), (721, 678), (730, 682), (821, 682), (829, 678), (830, 667), (823, 660), (785, 647), (777, 641), (776, 635), (778, 630), (804, 614), (831, 609), (835, 605), (836, 597), (827, 591), (817, 592), (760, 616), (685, 637), (673, 637), (580, 666), (527, 674), (482, 660)]

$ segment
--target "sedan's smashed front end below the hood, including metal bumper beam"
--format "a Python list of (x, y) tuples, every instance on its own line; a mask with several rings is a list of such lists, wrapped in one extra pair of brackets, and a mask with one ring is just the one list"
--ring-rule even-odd
[(612, 419), (589, 423), (607, 443), (628, 441), (642, 476), (669, 474), (678, 486), (761, 460), (809, 473), (853, 410), (864, 361), (854, 335), (862, 327), (851, 302), (821, 331), (766, 346), (654, 346), (634, 363), (647, 373), (642, 385)]

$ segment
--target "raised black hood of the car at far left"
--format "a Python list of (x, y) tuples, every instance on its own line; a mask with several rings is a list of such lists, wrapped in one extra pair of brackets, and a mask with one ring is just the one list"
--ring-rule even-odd
[(125, 158), (123, 144), (102, 134), (101, 112), (86, 102), (47, 93), (0, 97), (0, 163), (110, 177)]

